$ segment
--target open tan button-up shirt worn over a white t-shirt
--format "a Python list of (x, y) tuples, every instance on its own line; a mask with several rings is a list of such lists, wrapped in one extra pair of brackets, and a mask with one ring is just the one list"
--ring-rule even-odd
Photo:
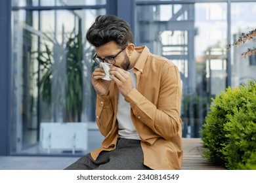
[[(140, 57), (133, 73), (137, 88), (125, 97), (131, 105), (131, 119), (137, 129), (144, 154), (144, 165), (151, 169), (181, 169), (181, 78), (179, 69), (166, 58), (151, 54), (146, 46), (135, 48)], [(96, 124), (105, 139), (93, 152), (93, 159), (102, 150), (114, 150), (118, 137), (118, 88), (110, 84), (106, 97), (97, 96)]]

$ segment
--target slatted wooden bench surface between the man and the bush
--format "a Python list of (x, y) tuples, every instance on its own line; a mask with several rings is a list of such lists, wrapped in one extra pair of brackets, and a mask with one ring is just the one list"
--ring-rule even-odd
[(209, 163), (202, 158), (203, 148), (202, 139), (182, 139), (183, 142), (183, 161), (182, 170), (224, 170), (224, 167)]

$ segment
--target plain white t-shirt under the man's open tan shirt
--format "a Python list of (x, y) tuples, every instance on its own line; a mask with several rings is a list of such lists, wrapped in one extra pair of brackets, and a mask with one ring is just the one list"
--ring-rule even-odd
[[(131, 74), (133, 86), (136, 88), (136, 75), (133, 73), (133, 69), (130, 69), (128, 72)], [(117, 121), (119, 137), (140, 140), (139, 134), (137, 133), (137, 130), (133, 125), (133, 121), (131, 120), (131, 106), (125, 101), (125, 98), (120, 92), (117, 106)]]

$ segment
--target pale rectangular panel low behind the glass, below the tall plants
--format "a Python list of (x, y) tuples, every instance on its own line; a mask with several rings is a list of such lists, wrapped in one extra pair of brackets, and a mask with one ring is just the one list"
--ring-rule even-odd
[(41, 123), (41, 150), (85, 151), (88, 146), (88, 124), (81, 123)]

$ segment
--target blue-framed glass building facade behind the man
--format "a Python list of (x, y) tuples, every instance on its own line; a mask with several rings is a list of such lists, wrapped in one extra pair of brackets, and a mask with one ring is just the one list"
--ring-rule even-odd
[(256, 80), (256, 1), (3, 0), (0, 3), (0, 155), (77, 156), (100, 146), (91, 85), (96, 16), (129, 22), (135, 46), (171, 59), (182, 79), (182, 137), (200, 138), (211, 98)]

